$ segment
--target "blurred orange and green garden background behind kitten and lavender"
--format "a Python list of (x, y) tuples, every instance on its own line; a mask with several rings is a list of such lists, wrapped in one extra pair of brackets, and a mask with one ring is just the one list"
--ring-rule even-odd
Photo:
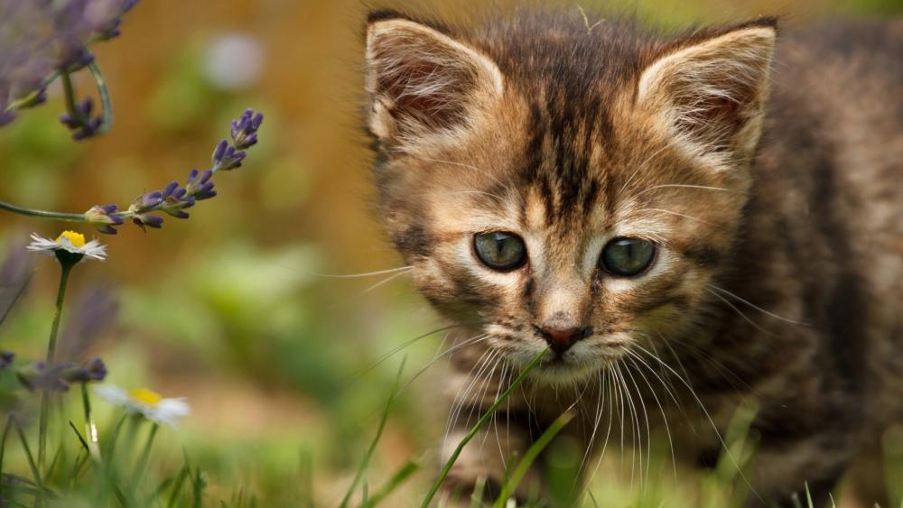
[[(600, 4), (581, 2), (588, 10)], [(454, 19), (482, 2), (414, 10), (424, 5)], [(605, 5), (666, 27), (759, 14), (783, 14), (792, 26), (903, 12), (899, 0)], [(120, 38), (92, 48), (116, 112), (109, 134), (72, 143), (57, 121), (59, 84), (48, 105), (0, 130), (0, 199), (80, 212), (127, 206), (144, 190), (184, 181), (191, 168), (207, 167), (231, 118), (246, 107), (265, 113), (245, 166), (220, 173), (219, 196), (192, 208), (190, 220), (167, 218), (147, 233), (126, 225), (100, 238), (109, 259), (75, 272), (64, 316), (70, 328), (93, 319), (90, 353), (105, 359), (114, 383), (187, 397), (193, 414), (182, 429), (161, 433), (160, 453), (174, 464), (184, 447), (207, 471), (211, 500), (244, 485), (265, 493), (265, 505), (292, 505), (284, 485), (307, 478), (318, 498), (336, 501), (402, 357), (407, 383), (439, 350), (442, 334), (380, 363), (441, 326), (404, 276), (323, 276), (401, 264), (371, 211), (359, 116), (367, 11), (359, 0), (144, 1), (126, 14)], [(87, 72), (76, 84), (94, 93)], [(0, 214), (0, 243), (31, 232), (55, 237), (63, 226)], [(42, 356), (59, 276), (48, 259), (36, 269), (0, 328), (0, 344), (22, 357)], [(409, 458), (428, 464), (444, 419), (431, 387), (441, 372), (440, 362), (405, 388), (374, 457), (374, 483)], [(425, 467), (424, 480), (432, 473)]]

